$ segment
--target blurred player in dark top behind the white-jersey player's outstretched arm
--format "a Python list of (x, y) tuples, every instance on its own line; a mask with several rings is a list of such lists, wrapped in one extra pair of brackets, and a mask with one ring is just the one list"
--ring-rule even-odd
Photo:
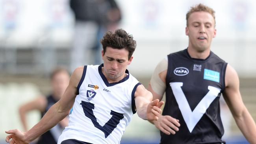
[[(69, 85), (69, 77), (69, 72), (66, 69), (56, 68), (51, 74), (52, 93), (47, 97), (39, 96), (35, 100), (25, 103), (20, 107), (20, 119), (25, 131), (28, 131), (26, 113), (33, 110), (38, 110), (41, 112), (41, 116), (43, 118), (50, 107), (54, 105), (54, 103), (58, 102), (61, 96), (64, 94), (65, 89)], [(52, 129), (41, 135), (36, 143), (57, 144), (58, 138), (63, 129), (68, 126), (68, 122), (68, 117), (65, 117), (56, 126), (52, 127)]]

